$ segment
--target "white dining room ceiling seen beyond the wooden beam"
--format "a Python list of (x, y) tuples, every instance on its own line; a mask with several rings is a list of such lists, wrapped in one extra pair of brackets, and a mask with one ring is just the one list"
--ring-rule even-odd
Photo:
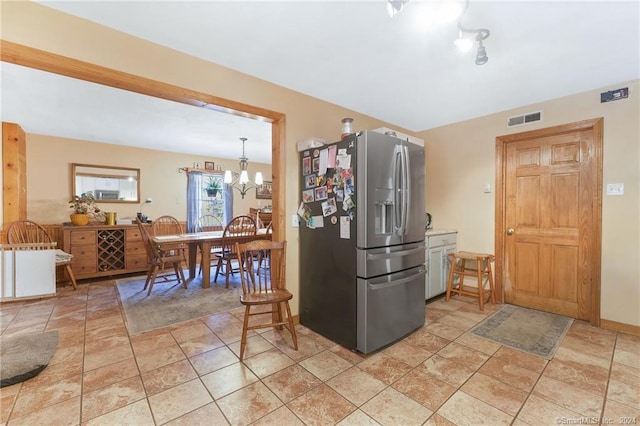
[(271, 124), (2, 63), (2, 121), (27, 133), (271, 163)]

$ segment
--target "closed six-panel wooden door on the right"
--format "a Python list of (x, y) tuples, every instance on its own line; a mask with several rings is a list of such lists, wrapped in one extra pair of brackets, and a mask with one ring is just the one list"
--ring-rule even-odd
[(602, 120), (499, 137), (498, 146), (504, 301), (597, 325)]

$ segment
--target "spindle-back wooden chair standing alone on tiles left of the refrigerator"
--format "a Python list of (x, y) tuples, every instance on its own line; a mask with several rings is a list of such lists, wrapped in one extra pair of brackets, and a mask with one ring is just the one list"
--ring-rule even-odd
[[(289, 306), (289, 300), (293, 295), (284, 286), (286, 248), (286, 241), (254, 240), (243, 244), (236, 243), (234, 251), (237, 253), (242, 280), (240, 303), (245, 307), (240, 341), (241, 361), (247, 346), (249, 330), (284, 326), (291, 333), (294, 349), (298, 350), (298, 338)], [(256, 267), (258, 264), (261, 265), (259, 268)], [(271, 310), (256, 309), (251, 312), (252, 307), (265, 305), (271, 305)], [(286, 318), (283, 316), (282, 305), (287, 311)], [(269, 315), (270, 321), (249, 325), (250, 317), (265, 314)]]

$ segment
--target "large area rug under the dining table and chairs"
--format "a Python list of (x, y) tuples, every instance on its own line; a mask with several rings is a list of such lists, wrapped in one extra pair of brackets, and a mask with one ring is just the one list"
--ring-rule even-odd
[(194, 280), (185, 289), (175, 282), (158, 282), (147, 296), (147, 290), (142, 289), (144, 280), (145, 277), (137, 277), (116, 281), (131, 335), (241, 306), (242, 288), (231, 284), (229, 288), (220, 284), (202, 288), (201, 281)]

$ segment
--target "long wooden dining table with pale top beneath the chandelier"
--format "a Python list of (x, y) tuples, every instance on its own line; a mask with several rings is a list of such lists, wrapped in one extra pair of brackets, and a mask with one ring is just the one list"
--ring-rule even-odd
[[(153, 235), (151, 240), (162, 246), (175, 246), (176, 244), (186, 244), (189, 247), (189, 278), (191, 281), (196, 277), (196, 267), (198, 265), (198, 248), (200, 249), (200, 264), (202, 265), (202, 287), (211, 287), (211, 247), (221, 246), (223, 240), (223, 231), (206, 231), (206, 232), (190, 232), (185, 234), (172, 235)], [(267, 232), (266, 228), (256, 230), (255, 239), (264, 240), (271, 239), (271, 232)], [(233, 234), (227, 235), (226, 244), (235, 244)], [(238, 236), (239, 241), (246, 241), (246, 235)]]

